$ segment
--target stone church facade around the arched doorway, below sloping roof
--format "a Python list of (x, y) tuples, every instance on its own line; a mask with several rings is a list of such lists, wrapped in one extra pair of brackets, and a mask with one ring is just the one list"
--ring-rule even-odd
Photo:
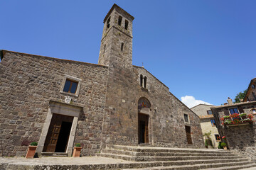
[[(117, 67), (114, 67), (115, 69)], [(111, 72), (110, 72), (111, 74)], [(140, 86), (140, 75), (147, 77), (146, 88)], [(124, 79), (125, 77), (125, 79)], [(107, 144), (138, 144), (138, 101), (145, 97), (151, 103), (149, 143), (161, 147), (188, 147), (185, 125), (191, 126), (193, 145), (204, 147), (198, 115), (169, 92), (167, 86), (142, 67), (117, 69), (110, 75), (103, 137)], [(190, 123), (184, 123), (183, 113)]]

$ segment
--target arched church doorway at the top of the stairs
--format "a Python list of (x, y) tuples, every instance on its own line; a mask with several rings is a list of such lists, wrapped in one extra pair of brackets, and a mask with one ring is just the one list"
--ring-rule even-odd
[(138, 102), (138, 139), (139, 144), (149, 143), (149, 115), (151, 104), (146, 98)]

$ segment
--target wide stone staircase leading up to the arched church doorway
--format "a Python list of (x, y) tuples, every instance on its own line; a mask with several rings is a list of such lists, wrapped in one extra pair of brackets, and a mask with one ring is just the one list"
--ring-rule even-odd
[[(121, 169), (245, 169), (254, 162), (223, 149), (181, 149), (165, 147), (132, 147), (107, 145), (97, 157), (129, 161)], [(255, 168), (256, 169), (256, 168)]]

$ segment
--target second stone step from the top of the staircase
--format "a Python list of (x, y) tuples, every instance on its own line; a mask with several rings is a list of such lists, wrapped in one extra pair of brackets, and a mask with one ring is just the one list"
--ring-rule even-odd
[(237, 154), (233, 154), (231, 152), (228, 153), (186, 153), (186, 152), (133, 152), (133, 151), (125, 151), (125, 150), (117, 150), (117, 149), (102, 149), (102, 153), (110, 153), (110, 154), (125, 154), (130, 156), (137, 156), (137, 157), (145, 157), (145, 156), (152, 156), (152, 157), (188, 157), (188, 156), (237, 156)]

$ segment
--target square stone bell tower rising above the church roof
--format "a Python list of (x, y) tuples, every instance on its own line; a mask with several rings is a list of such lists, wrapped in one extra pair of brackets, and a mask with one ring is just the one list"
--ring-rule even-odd
[(132, 21), (134, 17), (114, 4), (103, 21), (98, 64), (132, 69)]

